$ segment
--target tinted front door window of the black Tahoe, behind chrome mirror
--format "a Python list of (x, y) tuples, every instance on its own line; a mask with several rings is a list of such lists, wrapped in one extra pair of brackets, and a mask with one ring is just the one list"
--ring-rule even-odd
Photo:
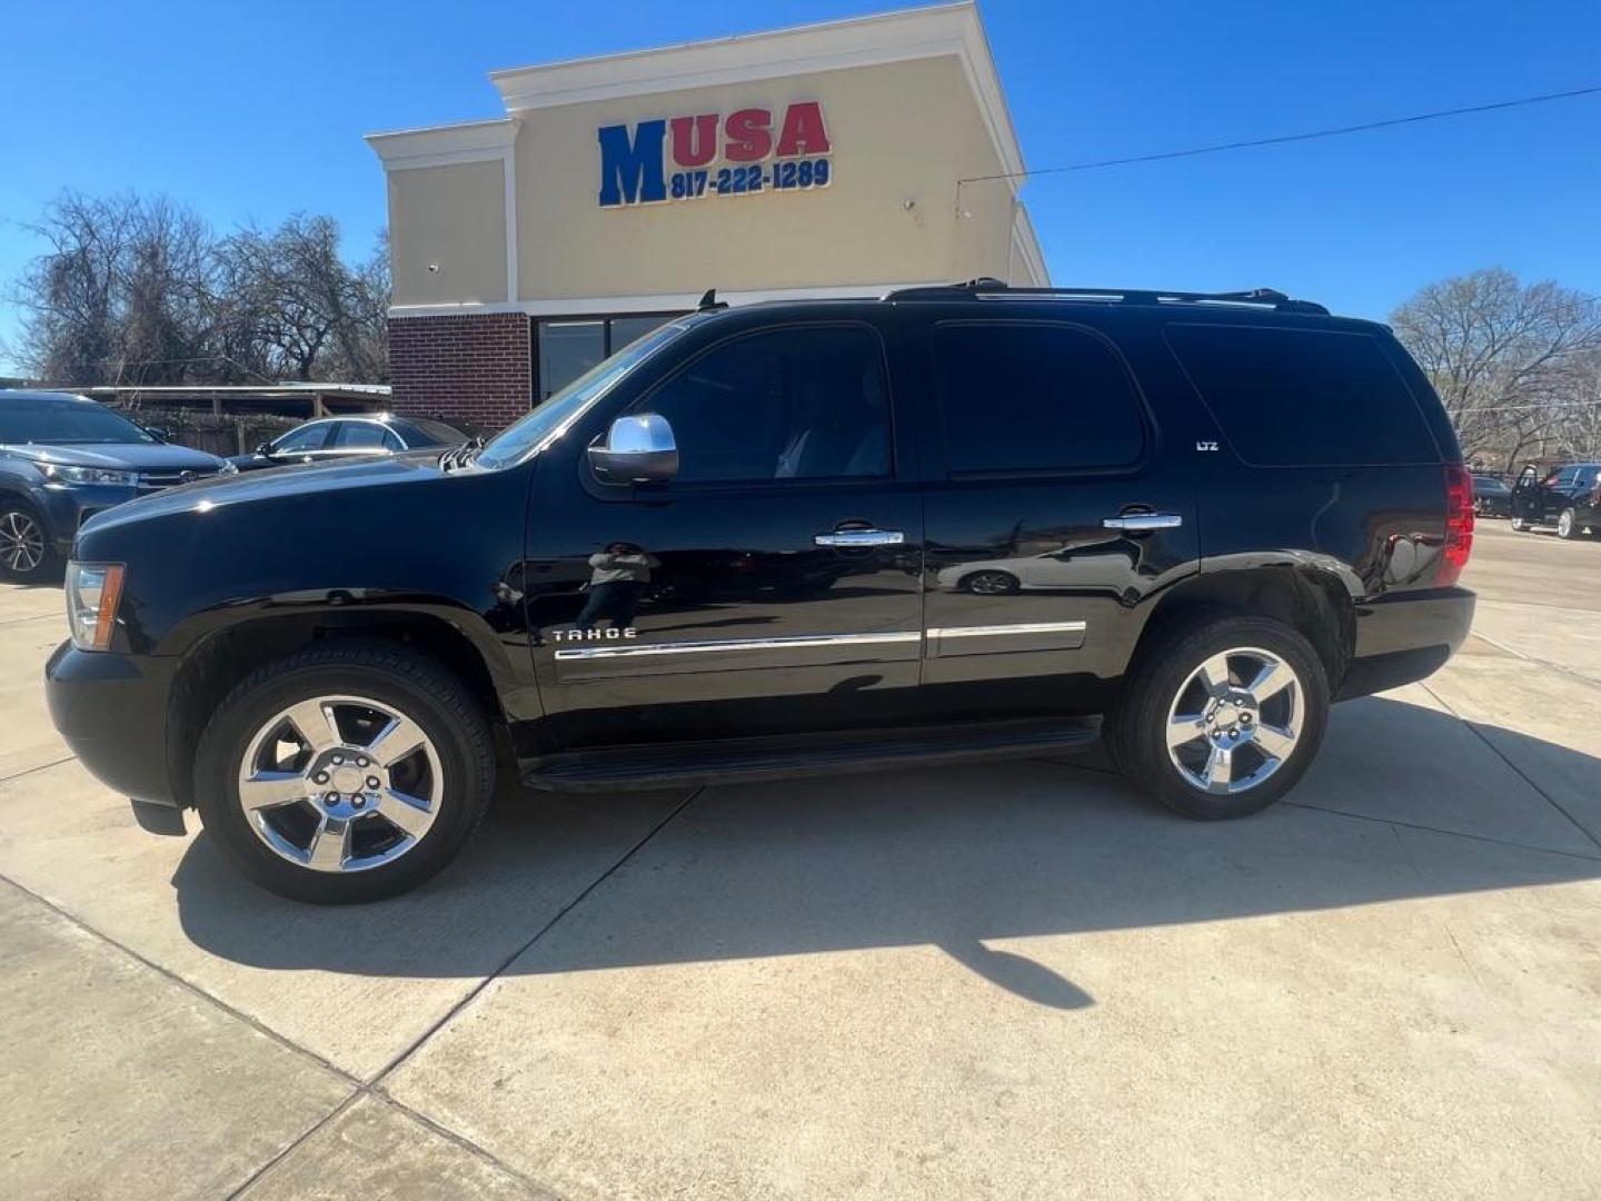
[(655, 389), (687, 484), (887, 476), (889, 389), (877, 335), (853, 327), (756, 333)]

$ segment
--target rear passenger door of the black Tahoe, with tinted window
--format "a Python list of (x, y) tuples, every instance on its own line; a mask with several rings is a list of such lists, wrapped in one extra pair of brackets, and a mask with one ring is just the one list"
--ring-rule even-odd
[(1153, 410), (1103, 331), (964, 315), (922, 338), (924, 682), (969, 711), (1097, 711), (1140, 602), (1196, 570), (1194, 487), (1158, 469)]

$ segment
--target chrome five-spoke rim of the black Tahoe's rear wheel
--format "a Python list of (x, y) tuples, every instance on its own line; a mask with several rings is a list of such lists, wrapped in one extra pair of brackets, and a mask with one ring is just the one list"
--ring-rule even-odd
[(1234, 647), (1185, 679), (1167, 709), (1167, 756), (1186, 785), (1231, 796), (1257, 788), (1295, 753), (1305, 697), (1279, 655)]

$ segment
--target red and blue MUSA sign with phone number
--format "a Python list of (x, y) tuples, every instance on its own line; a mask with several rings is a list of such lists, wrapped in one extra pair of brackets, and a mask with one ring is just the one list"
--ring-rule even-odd
[(833, 149), (823, 106), (799, 101), (773, 120), (770, 109), (738, 109), (727, 117), (658, 117), (604, 125), (600, 207), (700, 200), (828, 187)]

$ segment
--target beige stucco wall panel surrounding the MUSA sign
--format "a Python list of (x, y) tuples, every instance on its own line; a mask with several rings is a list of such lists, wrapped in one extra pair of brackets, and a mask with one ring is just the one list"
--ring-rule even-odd
[[(597, 130), (820, 101), (833, 181), (807, 192), (600, 208)], [(765, 290), (1005, 274), (1010, 192), (956, 58), (512, 112), (522, 299)], [(716, 167), (716, 163), (714, 163)], [(905, 202), (913, 200), (908, 213)]]

